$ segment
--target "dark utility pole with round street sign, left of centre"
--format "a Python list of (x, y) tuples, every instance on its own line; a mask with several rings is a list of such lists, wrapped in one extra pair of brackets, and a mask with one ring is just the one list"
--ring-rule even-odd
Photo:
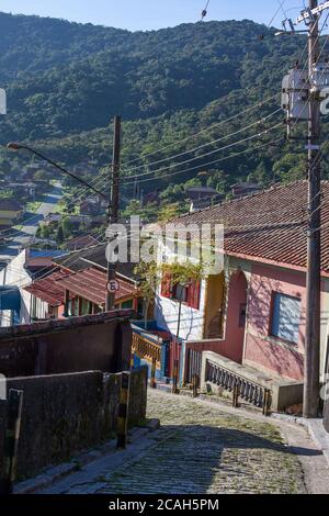
[[(120, 153), (121, 153), (121, 116), (114, 117), (113, 127), (113, 158), (112, 158), (112, 187), (110, 192), (110, 224), (118, 221), (118, 188), (120, 188)], [(116, 262), (112, 262), (107, 256), (107, 291), (106, 312), (115, 306), (115, 291), (110, 291), (109, 285), (116, 279)]]

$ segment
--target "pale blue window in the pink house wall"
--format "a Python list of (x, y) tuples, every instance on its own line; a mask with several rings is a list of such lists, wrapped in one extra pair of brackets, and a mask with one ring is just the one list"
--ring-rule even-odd
[(302, 301), (299, 298), (273, 293), (271, 335), (287, 343), (298, 344)]

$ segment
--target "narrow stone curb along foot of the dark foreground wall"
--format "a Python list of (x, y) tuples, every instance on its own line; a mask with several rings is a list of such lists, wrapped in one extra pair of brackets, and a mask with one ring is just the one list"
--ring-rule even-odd
[[(145, 427), (132, 428), (128, 435), (128, 441), (134, 442), (137, 439), (145, 437), (150, 431), (155, 431), (159, 427), (159, 419), (150, 419)], [(83, 465), (90, 464), (105, 455), (114, 452), (116, 452), (116, 439), (100, 446), (98, 449), (92, 449), (91, 451), (86, 451), (76, 456), (71, 462), (47, 468), (42, 474), (23, 482), (19, 482), (14, 486), (14, 494), (33, 494), (36, 491), (49, 487), (58, 480), (79, 471)]]

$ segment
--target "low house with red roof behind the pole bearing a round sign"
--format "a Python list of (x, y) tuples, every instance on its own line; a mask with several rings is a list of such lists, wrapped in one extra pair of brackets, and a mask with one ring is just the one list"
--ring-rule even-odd
[[(93, 243), (93, 242), (92, 242)], [(54, 271), (24, 287), (33, 300), (48, 305), (48, 315), (66, 317), (97, 314), (105, 310), (107, 289), (107, 244), (97, 244), (53, 259)], [(118, 263), (116, 309), (134, 309), (143, 315), (134, 266)]]

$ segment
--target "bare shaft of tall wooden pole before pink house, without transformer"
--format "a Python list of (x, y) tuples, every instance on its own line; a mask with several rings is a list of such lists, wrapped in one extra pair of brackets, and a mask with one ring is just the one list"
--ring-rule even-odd
[[(309, 0), (309, 10), (318, 7), (317, 0)], [(320, 104), (318, 92), (313, 90), (311, 77), (319, 58), (318, 15), (311, 16), (308, 25), (308, 234), (307, 234), (307, 301), (305, 338), (304, 417), (316, 417), (319, 410), (320, 372)]]

